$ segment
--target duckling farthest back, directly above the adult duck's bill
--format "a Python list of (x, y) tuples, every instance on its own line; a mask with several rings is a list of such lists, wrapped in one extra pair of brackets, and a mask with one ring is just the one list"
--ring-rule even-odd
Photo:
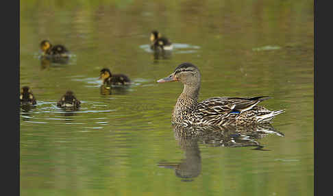
[(153, 30), (150, 35), (150, 49), (154, 51), (168, 51), (173, 49), (172, 43), (168, 38), (163, 37), (158, 31)]

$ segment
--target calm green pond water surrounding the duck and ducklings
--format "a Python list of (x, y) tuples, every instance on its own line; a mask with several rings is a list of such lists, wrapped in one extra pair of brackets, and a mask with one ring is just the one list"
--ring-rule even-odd
[[(21, 195), (313, 195), (313, 1), (156, 2), (21, 1), (20, 84), (38, 103), (20, 114)], [(152, 29), (172, 53), (149, 51)], [(44, 39), (69, 62), (40, 60)], [(281, 134), (179, 136), (182, 84), (156, 80), (182, 62), (201, 71), (200, 100), (273, 97), (260, 104), (286, 109)], [(104, 67), (134, 84), (101, 95)], [(69, 89), (77, 112), (56, 107)]]

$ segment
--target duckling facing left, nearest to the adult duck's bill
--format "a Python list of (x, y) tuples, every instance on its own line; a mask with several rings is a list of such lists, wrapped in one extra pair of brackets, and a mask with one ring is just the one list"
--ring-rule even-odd
[(111, 85), (128, 85), (131, 84), (131, 80), (127, 75), (122, 73), (111, 74), (110, 69), (104, 68), (101, 70), (99, 79), (103, 79), (103, 84), (110, 88)]

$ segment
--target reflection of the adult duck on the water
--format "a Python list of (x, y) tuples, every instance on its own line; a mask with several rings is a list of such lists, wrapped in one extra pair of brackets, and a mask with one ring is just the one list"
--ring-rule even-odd
[(269, 123), (247, 127), (183, 127), (173, 124), (173, 132), (178, 145), (185, 151), (185, 159), (182, 162), (159, 162), (158, 167), (175, 169), (175, 175), (185, 182), (193, 181), (201, 173), (198, 142), (213, 147), (256, 147), (254, 149), (264, 150), (264, 146), (257, 141), (259, 138), (268, 134), (284, 136)]

